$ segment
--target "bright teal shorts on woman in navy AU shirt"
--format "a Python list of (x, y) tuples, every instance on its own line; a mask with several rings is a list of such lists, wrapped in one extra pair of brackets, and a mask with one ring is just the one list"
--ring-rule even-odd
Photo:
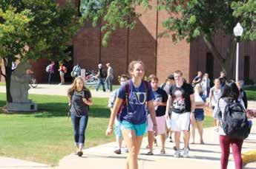
[(139, 137), (143, 136), (146, 133), (147, 128), (148, 126), (146, 122), (140, 125), (134, 125), (125, 120), (121, 122), (121, 130), (126, 129), (126, 130), (135, 131), (136, 136), (139, 136)]

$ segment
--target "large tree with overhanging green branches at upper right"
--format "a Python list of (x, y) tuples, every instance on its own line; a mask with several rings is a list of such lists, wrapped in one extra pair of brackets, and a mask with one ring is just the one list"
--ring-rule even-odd
[[(135, 18), (140, 16), (140, 13), (136, 13), (135, 10), (138, 5), (151, 9), (148, 0), (90, 0), (87, 5), (86, 10), (82, 11), (86, 19), (93, 18), (94, 24), (99, 18), (106, 22), (102, 27), (102, 31), (105, 31), (103, 44), (106, 44), (108, 36), (117, 28), (134, 28)], [(253, 34), (255, 31), (254, 0), (158, 0), (157, 10), (171, 13), (169, 18), (163, 21), (166, 30), (160, 33), (160, 37), (171, 34), (174, 42), (183, 39), (192, 42), (202, 36), (206, 46), (226, 72), (232, 72), (236, 47), (233, 28), (237, 22), (240, 21), (243, 27), (250, 28), (245, 29), (243, 40), (256, 38)], [(221, 55), (212, 41), (212, 36), (220, 31), (229, 35), (229, 48), (226, 55)]]

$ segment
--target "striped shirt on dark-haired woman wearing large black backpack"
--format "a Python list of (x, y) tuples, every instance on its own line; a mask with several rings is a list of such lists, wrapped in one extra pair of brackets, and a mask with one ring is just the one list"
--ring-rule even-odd
[[(240, 102), (240, 104), (243, 106), (243, 103)], [(221, 116), (222, 120), (224, 119), (224, 113), (225, 113), (226, 105), (227, 105), (226, 101), (223, 100), (223, 98), (220, 98), (219, 105), (214, 108), (214, 114), (217, 114), (218, 120), (220, 120), (220, 113), (222, 115)], [(243, 106), (243, 108), (244, 108), (244, 106)], [(225, 132), (223, 131), (221, 120), (220, 120), (220, 125), (221, 126), (220, 126), (220, 129), (219, 129), (219, 134), (223, 135), (223, 136), (226, 136)]]

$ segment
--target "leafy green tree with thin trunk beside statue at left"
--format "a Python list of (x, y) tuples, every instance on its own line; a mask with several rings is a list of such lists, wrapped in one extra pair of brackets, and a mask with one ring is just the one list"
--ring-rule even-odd
[(78, 19), (69, 2), (61, 9), (52, 0), (0, 1), (0, 55), (6, 71), (7, 102), (12, 102), (10, 76), (16, 55), (24, 61), (69, 60), (68, 43), (79, 28)]

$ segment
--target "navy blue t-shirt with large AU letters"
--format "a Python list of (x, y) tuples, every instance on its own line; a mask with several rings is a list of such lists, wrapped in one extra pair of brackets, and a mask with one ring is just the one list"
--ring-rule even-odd
[[(128, 108), (125, 106), (125, 108), (122, 108), (122, 112), (120, 114), (120, 120), (128, 121), (129, 123), (132, 123), (134, 125), (140, 125), (142, 123), (145, 123), (147, 120), (147, 114), (145, 111), (145, 103), (147, 101), (154, 100), (154, 93), (151, 89), (151, 85), (147, 84), (148, 86), (148, 92), (147, 87), (145, 83), (143, 82), (140, 84), (140, 87), (135, 87), (134, 82), (132, 80), (128, 80), (125, 84), (120, 86), (117, 97), (119, 99), (125, 100), (125, 86), (129, 84), (129, 95), (128, 95)], [(127, 112), (128, 109), (128, 112)]]

